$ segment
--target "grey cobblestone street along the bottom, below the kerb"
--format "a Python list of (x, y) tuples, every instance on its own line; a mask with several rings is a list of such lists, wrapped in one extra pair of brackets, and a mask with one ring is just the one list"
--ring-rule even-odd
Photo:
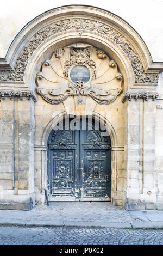
[(163, 230), (1, 226), (0, 245), (163, 245)]

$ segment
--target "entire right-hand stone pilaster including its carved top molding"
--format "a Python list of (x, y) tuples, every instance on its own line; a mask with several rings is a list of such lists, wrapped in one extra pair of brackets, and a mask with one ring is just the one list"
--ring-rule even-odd
[[(155, 209), (155, 111), (153, 92), (127, 92), (126, 145), (127, 169), (126, 209)], [(134, 99), (133, 99), (134, 98)], [(151, 99), (150, 99), (151, 98)]]

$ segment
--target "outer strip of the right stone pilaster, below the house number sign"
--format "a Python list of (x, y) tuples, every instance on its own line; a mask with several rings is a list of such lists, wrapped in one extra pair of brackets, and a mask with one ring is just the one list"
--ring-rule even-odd
[(156, 208), (155, 190), (155, 119), (156, 102), (144, 101), (143, 106), (143, 189), (140, 200), (146, 208)]

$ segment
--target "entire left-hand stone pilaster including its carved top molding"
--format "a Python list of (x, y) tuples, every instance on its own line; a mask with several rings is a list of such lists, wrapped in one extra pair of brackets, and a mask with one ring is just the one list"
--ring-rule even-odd
[[(9, 92), (9, 93), (6, 93)], [(23, 95), (20, 97), (20, 95)], [(31, 94), (1, 91), (1, 209), (29, 210), (35, 202), (33, 168), (34, 102)], [(10, 109), (10, 110), (9, 110)], [(8, 152), (7, 152), (8, 151)]]

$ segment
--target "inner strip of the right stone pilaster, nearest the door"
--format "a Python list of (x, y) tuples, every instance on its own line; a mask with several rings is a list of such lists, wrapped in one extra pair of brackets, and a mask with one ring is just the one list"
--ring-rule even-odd
[[(126, 204), (139, 200), (139, 101), (126, 102), (125, 161), (127, 184), (124, 187)], [(131, 206), (130, 206), (131, 207)]]

